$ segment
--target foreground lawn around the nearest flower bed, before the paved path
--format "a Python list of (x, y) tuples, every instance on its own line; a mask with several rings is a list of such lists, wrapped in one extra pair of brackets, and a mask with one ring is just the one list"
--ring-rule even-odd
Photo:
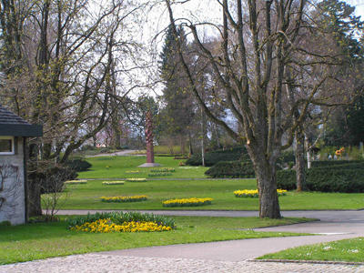
[(66, 222), (0, 226), (0, 265), (39, 258), (125, 248), (210, 242), (298, 234), (256, 232), (242, 228), (268, 227), (308, 221), (302, 218), (174, 217), (177, 229), (150, 233), (93, 234), (70, 231)]

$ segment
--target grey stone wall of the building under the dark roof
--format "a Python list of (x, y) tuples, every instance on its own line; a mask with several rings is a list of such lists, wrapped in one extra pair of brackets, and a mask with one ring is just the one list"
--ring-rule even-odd
[[(0, 155), (0, 223), (25, 223), (24, 147), (23, 137), (15, 138), (15, 155)], [(0, 174), (1, 175), (1, 174)]]

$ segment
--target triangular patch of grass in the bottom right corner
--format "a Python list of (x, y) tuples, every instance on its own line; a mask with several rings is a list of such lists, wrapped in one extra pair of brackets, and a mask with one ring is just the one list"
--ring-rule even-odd
[(364, 238), (289, 248), (260, 258), (364, 262)]

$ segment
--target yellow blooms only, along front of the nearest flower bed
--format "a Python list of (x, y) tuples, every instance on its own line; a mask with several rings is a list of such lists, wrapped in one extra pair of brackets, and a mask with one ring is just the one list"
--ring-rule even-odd
[(124, 222), (116, 225), (110, 218), (98, 219), (95, 222), (86, 222), (81, 226), (71, 227), (71, 230), (85, 231), (92, 233), (110, 233), (110, 232), (138, 232), (138, 231), (169, 231), (172, 227), (158, 225), (155, 222)]

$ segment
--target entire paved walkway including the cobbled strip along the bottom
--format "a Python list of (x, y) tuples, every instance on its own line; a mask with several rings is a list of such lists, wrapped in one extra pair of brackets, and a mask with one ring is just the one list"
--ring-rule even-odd
[[(63, 210), (59, 214), (86, 214)], [(90, 211), (95, 212), (95, 211)], [(149, 211), (164, 215), (257, 216), (255, 211)], [(66, 258), (49, 258), (0, 267), (0, 272), (363, 272), (364, 265), (249, 261), (286, 248), (342, 238), (364, 237), (364, 211), (283, 211), (284, 217), (316, 217), (318, 222), (257, 231), (320, 233), (319, 236), (258, 238), (201, 244), (134, 248)]]

